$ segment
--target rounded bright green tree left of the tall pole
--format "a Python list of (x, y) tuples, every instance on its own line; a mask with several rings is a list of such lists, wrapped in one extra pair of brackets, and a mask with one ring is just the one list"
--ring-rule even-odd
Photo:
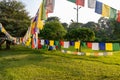
[(66, 30), (58, 21), (50, 21), (44, 25), (44, 29), (40, 33), (40, 37), (44, 39), (60, 40), (66, 34)]

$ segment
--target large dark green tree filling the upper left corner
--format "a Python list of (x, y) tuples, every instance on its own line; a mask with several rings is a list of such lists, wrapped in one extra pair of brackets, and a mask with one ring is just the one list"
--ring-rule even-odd
[(30, 25), (25, 6), (16, 0), (0, 1), (0, 22), (8, 33), (15, 37), (24, 36)]

